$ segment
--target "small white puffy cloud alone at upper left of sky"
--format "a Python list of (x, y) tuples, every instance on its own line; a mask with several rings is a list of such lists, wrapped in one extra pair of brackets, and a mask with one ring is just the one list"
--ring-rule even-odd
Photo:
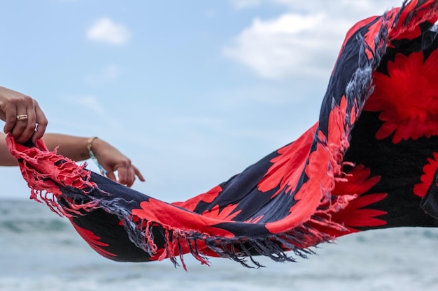
[(97, 20), (87, 30), (88, 39), (111, 45), (124, 45), (131, 36), (131, 31), (125, 25), (115, 23), (108, 17)]

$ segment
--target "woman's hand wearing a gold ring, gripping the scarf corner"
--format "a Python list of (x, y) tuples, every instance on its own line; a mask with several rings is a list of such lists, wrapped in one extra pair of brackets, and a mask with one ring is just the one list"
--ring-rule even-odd
[(21, 144), (43, 137), (48, 124), (36, 100), (5, 87), (0, 87), (0, 119), (6, 122), (4, 133), (10, 132)]

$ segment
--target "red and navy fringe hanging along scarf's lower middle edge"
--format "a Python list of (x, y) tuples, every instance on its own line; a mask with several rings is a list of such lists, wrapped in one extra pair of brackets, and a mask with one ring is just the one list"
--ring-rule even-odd
[[(323, 213), (332, 209), (325, 209)], [(322, 210), (321, 210), (322, 211)], [(312, 216), (309, 223), (314, 225), (322, 225), (324, 227), (332, 227), (339, 231), (347, 231), (346, 227), (328, 221), (317, 214)], [(157, 260), (169, 260), (178, 267), (179, 262), (183, 265), (183, 269), (187, 271), (187, 266), (184, 262), (185, 253), (190, 253), (196, 260), (202, 264), (210, 265), (209, 259), (202, 251), (197, 248), (197, 241), (203, 241), (206, 246), (216, 253), (220, 258), (226, 258), (239, 262), (243, 267), (260, 268), (264, 267), (258, 262), (255, 257), (261, 255), (275, 262), (296, 262), (296, 259), (289, 255), (292, 252), (296, 257), (307, 258), (307, 255), (313, 254), (311, 247), (324, 242), (334, 241), (334, 237), (330, 234), (320, 232), (315, 227), (304, 223), (295, 229), (280, 234), (271, 234), (262, 237), (211, 237), (207, 234), (199, 232), (191, 232), (181, 229), (173, 229), (164, 227), (153, 221), (136, 221), (134, 228), (132, 225), (124, 223), (125, 229), (129, 232), (129, 238), (136, 244), (137, 247), (146, 251), (151, 257), (157, 254), (157, 246), (154, 242), (152, 234), (153, 227), (160, 227), (160, 233), (164, 238), (164, 251), (160, 254)], [(183, 251), (183, 246), (188, 248), (188, 252)]]

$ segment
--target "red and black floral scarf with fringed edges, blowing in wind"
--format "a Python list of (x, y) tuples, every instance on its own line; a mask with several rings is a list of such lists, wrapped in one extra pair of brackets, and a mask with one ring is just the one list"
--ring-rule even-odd
[[(167, 203), (45, 149), (15, 144), (31, 198), (69, 218), (116, 261), (191, 253), (258, 266), (353, 232), (435, 227), (438, 218), (438, 1), (412, 0), (352, 27), (318, 122), (241, 174)], [(435, 78), (437, 77), (437, 78)]]

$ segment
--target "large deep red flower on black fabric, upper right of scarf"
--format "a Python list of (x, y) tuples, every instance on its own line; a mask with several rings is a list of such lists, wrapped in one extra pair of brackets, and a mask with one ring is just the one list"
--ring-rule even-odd
[(376, 133), (382, 140), (391, 134), (393, 142), (438, 135), (438, 51), (424, 60), (423, 52), (406, 57), (396, 54), (388, 61), (388, 74), (375, 72), (375, 91), (364, 110), (381, 112), (383, 125)]

